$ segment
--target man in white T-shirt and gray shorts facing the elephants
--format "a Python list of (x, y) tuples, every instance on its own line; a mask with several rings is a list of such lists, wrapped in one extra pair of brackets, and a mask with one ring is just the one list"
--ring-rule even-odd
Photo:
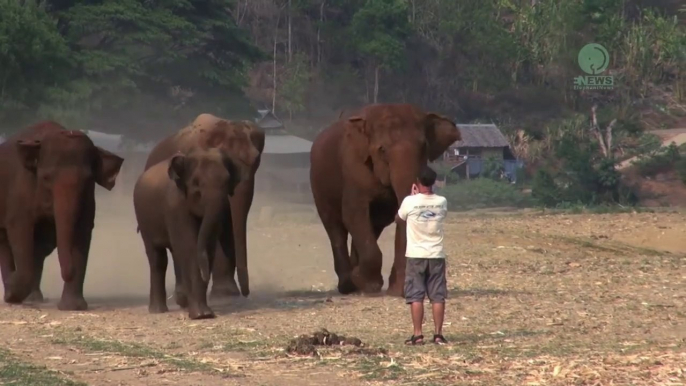
[(435, 182), (436, 172), (424, 166), (412, 186), (412, 195), (405, 197), (396, 215), (396, 221), (407, 225), (405, 302), (410, 304), (414, 333), (405, 343), (411, 345), (424, 344), (422, 320), (427, 295), (433, 311), (433, 343), (447, 343), (442, 329), (448, 295), (443, 251), (443, 220), (448, 213), (448, 202), (433, 193)]

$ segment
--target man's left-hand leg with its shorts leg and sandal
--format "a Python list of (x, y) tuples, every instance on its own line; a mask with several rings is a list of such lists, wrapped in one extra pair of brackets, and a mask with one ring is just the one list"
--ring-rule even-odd
[(405, 303), (410, 305), (414, 332), (406, 344), (424, 343), (422, 321), (424, 320), (424, 297), (426, 296), (427, 262), (424, 259), (407, 259), (405, 269)]

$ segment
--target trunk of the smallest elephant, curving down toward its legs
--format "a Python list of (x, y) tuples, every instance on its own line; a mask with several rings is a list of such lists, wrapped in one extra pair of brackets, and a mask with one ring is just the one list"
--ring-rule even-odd
[(219, 221), (224, 212), (222, 210), (224, 201), (226, 201), (226, 196), (224, 195), (217, 195), (216, 198), (210, 198), (207, 201), (208, 205), (205, 207), (200, 231), (198, 232), (198, 265), (200, 266), (200, 276), (205, 283), (210, 281), (214, 250), (217, 245)]

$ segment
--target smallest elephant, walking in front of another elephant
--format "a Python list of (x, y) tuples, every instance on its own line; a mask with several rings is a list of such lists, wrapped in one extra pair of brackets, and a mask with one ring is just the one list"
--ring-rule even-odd
[(181, 268), (176, 302), (191, 319), (213, 318), (207, 285), (217, 239), (231, 251), (231, 214), (238, 173), (217, 149), (178, 153), (145, 171), (136, 182), (133, 204), (150, 264), (151, 313), (167, 312), (167, 249)]

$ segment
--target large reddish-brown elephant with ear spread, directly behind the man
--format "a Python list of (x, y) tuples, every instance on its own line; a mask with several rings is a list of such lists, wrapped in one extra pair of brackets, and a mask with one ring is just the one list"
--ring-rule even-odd
[[(340, 293), (381, 291), (381, 232), (394, 222), (420, 167), (460, 139), (453, 121), (411, 104), (365, 106), (317, 136), (310, 185), (331, 242)], [(405, 225), (396, 225), (389, 295), (404, 292), (406, 242)]]

